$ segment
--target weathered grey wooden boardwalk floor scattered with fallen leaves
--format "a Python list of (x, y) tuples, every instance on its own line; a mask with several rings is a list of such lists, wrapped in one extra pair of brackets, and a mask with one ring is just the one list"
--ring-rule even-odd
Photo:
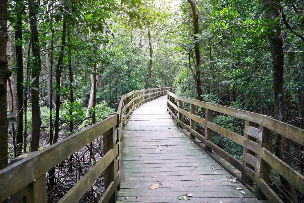
[[(145, 103), (126, 124), (117, 203), (184, 202), (178, 200), (183, 194), (193, 194), (186, 202), (264, 202), (230, 181), (226, 170), (176, 128), (166, 106), (167, 96)], [(159, 188), (149, 189), (151, 184)]]

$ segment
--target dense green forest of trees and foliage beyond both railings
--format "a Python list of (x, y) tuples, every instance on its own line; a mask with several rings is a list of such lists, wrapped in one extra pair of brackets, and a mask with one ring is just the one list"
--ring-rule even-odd
[(0, 8), (0, 168), (155, 85), (304, 128), (302, 1), (0, 0)]

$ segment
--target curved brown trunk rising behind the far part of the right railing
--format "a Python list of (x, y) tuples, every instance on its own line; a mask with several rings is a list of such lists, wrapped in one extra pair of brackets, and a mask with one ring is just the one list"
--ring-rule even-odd
[[(196, 2), (195, 0), (188, 0), (189, 4), (191, 5), (192, 14), (193, 14), (193, 37), (196, 39), (196, 35), (199, 33), (199, 14), (197, 12)], [(195, 55), (195, 70), (194, 70), (194, 77), (195, 77), (195, 93), (196, 99), (202, 100), (202, 83), (201, 83), (201, 73), (199, 70), (200, 66), (200, 54), (199, 54), (199, 43), (194, 44), (194, 55)]]

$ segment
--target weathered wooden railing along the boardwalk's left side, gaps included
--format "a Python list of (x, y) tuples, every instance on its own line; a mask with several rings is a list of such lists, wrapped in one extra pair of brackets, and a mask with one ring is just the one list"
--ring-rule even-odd
[[(50, 202), (49, 196), (53, 194), (60, 196), (56, 198), (58, 202), (73, 203), (81, 200), (88, 191), (98, 203), (114, 202), (120, 182), (123, 126), (135, 107), (165, 95), (168, 89), (142, 89), (123, 95), (116, 104), (116, 112), (104, 120), (41, 151), (12, 159), (10, 166), (0, 170), (0, 202), (11, 197), (12, 202), (46, 203)], [(98, 144), (94, 146), (93, 142)], [(95, 157), (93, 151), (96, 152)], [(85, 159), (86, 152), (90, 155)], [(94, 162), (91, 164), (88, 160), (92, 159)], [(64, 176), (70, 169), (76, 174), (76, 181), (69, 177), (75, 184), (67, 190), (66, 184), (62, 183), (67, 181)], [(51, 182), (55, 176), (56, 181)], [(105, 191), (100, 197), (102, 182)]]

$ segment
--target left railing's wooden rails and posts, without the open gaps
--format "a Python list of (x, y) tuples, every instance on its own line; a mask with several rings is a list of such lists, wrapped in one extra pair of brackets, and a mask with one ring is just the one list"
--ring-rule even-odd
[[(45, 174), (71, 154), (77, 152), (95, 138), (105, 134), (107, 134), (109, 138), (109, 149), (104, 151), (104, 156), (85, 173), (59, 202), (78, 201), (84, 194), (81, 194), (75, 187), (81, 185), (79, 186), (81, 187), (81, 191), (87, 191), (96, 180), (91, 177), (98, 178), (102, 172), (111, 165), (113, 165), (113, 167), (109, 170), (109, 173), (114, 173), (114, 175), (110, 175), (111, 182), (105, 185), (106, 190), (98, 202), (108, 202), (113, 195), (116, 200), (117, 196), (115, 197), (115, 195), (117, 195), (117, 193), (115, 194), (115, 190), (117, 191), (120, 180), (119, 155), (122, 150), (123, 126), (135, 107), (153, 100), (158, 96), (165, 95), (170, 88), (171, 87), (141, 89), (127, 93), (121, 96), (117, 105), (117, 111), (105, 117), (104, 120), (41, 151), (25, 153), (15, 160), (13, 159), (15, 161), (14, 163), (0, 170), (0, 202), (5, 201), (5, 199), (17, 193), (19, 195), (18, 197), (20, 197), (19, 193), (21, 193), (21, 196), (26, 196), (28, 202), (46, 202)], [(116, 164), (117, 168), (115, 167)], [(96, 173), (97, 170), (98, 173)], [(25, 187), (30, 187), (30, 189), (26, 191), (23, 189)]]

